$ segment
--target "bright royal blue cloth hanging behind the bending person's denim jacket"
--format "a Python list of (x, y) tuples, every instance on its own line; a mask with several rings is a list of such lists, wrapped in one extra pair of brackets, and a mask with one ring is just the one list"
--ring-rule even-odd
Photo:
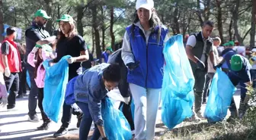
[(74, 86), (77, 78), (78, 76), (75, 76), (74, 78), (70, 79), (66, 86), (65, 102), (68, 105), (75, 104)]

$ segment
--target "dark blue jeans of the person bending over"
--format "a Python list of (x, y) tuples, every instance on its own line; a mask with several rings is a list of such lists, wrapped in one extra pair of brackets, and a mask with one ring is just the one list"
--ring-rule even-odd
[[(85, 140), (88, 138), (88, 134), (91, 129), (92, 118), (91, 118), (88, 104), (82, 103), (82, 102), (76, 102), (76, 104), (78, 105), (78, 107), (80, 107), (80, 109), (84, 113), (82, 117), (82, 121), (80, 123), (79, 140)], [(101, 136), (101, 133), (99, 132), (97, 125), (95, 125), (94, 133), (91, 137), (91, 140), (98, 140), (100, 136)]]

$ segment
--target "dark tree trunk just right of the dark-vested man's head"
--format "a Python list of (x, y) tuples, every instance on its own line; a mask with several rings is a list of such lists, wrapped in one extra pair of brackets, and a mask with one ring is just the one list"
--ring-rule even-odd
[(216, 6), (218, 8), (217, 12), (217, 23), (218, 23), (218, 30), (219, 30), (219, 37), (222, 40), (222, 42), (224, 42), (224, 38), (223, 38), (223, 24), (222, 24), (222, 8), (221, 8), (221, 1), (220, 0), (216, 0)]

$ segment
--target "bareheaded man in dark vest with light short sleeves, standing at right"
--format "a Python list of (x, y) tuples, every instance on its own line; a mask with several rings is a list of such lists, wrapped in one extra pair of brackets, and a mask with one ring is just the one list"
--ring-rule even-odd
[(186, 52), (187, 57), (190, 59), (190, 65), (194, 73), (195, 85), (195, 107), (194, 115), (190, 118), (190, 121), (200, 121), (203, 119), (201, 114), (201, 105), (203, 100), (203, 89), (206, 80), (207, 73), (207, 58), (210, 57), (210, 61), (213, 66), (216, 65), (213, 54), (213, 40), (210, 38), (210, 34), (213, 32), (213, 22), (206, 21), (203, 23), (202, 31), (193, 34), (188, 37)]

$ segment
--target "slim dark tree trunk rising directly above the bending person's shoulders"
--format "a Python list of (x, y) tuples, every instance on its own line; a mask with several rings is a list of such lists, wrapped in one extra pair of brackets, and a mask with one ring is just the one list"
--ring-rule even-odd
[(92, 26), (94, 29), (94, 39), (95, 39), (95, 47), (96, 47), (96, 56), (97, 58), (101, 58), (101, 39), (100, 32), (98, 26), (98, 12), (97, 12), (97, 4), (91, 5), (92, 12)]

